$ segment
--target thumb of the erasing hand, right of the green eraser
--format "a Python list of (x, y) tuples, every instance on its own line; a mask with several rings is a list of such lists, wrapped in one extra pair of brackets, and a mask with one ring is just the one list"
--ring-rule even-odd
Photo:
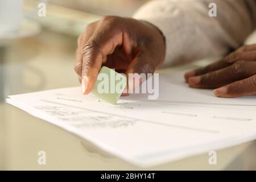
[[(147, 55), (140, 55), (131, 61), (126, 71), (127, 90), (134, 91), (155, 72), (158, 65)], [(151, 73), (151, 74), (148, 74)]]

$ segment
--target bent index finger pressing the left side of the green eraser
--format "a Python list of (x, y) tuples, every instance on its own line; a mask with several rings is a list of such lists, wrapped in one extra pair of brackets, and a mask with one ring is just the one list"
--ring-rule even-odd
[(100, 27), (82, 48), (82, 93), (92, 91), (103, 60), (122, 44), (122, 31)]

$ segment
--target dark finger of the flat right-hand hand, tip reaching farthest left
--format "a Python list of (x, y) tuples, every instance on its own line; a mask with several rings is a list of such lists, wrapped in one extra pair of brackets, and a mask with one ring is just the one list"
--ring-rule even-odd
[(185, 75), (184, 75), (185, 81), (188, 82), (188, 79), (190, 77), (198, 76), (198, 75), (204, 75), (205, 73), (213, 72), (213, 71), (216, 71), (218, 69), (228, 67), (229, 65), (230, 65), (230, 63), (226, 63), (223, 60), (216, 61), (212, 64), (207, 65), (206, 67), (197, 68), (195, 70), (192, 70), (192, 71), (189, 71), (189, 72), (185, 73)]

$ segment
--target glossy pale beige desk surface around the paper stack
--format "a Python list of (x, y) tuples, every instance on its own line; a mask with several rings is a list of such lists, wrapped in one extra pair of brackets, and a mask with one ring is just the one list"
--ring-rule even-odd
[[(0, 62), (3, 98), (9, 94), (78, 86), (73, 71), (75, 49), (76, 38), (49, 31), (6, 45), (1, 49)], [(201, 61), (159, 72), (198, 64), (207, 63)], [(98, 155), (81, 138), (3, 101), (0, 112), (0, 169), (140, 169), (120, 159)], [(208, 154), (203, 154), (148, 169), (225, 169), (251, 144), (217, 151), (215, 166), (210, 166)], [(38, 151), (46, 151), (46, 165), (38, 164)]]

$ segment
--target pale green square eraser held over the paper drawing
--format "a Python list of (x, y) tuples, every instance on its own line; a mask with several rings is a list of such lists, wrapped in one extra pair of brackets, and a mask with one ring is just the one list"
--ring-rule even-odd
[(126, 87), (126, 82), (125, 75), (108, 67), (102, 67), (98, 73), (92, 94), (110, 104), (116, 104)]

